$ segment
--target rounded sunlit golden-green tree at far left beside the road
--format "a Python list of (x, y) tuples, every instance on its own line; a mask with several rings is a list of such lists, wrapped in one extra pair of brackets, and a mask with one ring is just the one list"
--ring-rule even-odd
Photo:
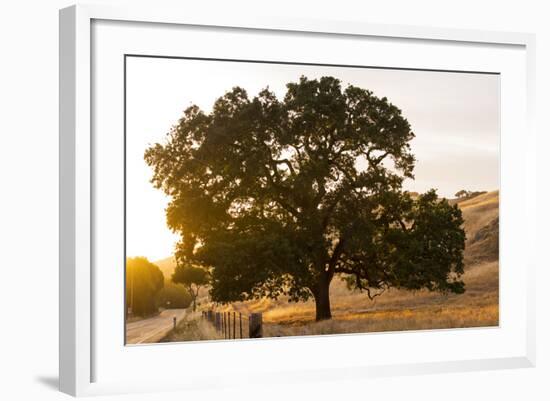
[(147, 258), (126, 259), (126, 305), (132, 315), (148, 316), (157, 309), (156, 296), (164, 286), (164, 275)]

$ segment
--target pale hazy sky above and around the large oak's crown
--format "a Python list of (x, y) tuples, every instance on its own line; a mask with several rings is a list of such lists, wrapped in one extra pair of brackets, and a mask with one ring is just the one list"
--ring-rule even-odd
[(286, 83), (334, 76), (369, 89), (402, 110), (416, 137), (414, 180), (404, 188), (435, 188), (452, 198), (461, 189), (499, 188), (498, 75), (322, 67), (184, 59), (136, 58), (126, 63), (126, 248), (151, 261), (171, 256), (178, 236), (166, 227), (169, 199), (150, 183), (145, 150), (163, 143), (183, 110), (209, 112), (234, 86), (253, 97), (265, 87), (282, 98)]

